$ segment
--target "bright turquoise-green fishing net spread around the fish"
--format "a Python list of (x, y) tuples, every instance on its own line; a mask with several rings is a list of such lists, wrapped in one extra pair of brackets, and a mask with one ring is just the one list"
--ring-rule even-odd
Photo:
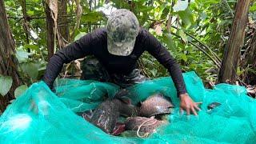
[[(195, 102), (202, 102), (198, 117), (179, 113), (171, 78), (157, 78), (128, 88), (134, 104), (151, 94), (170, 97), (176, 107), (168, 124), (148, 138), (105, 134), (77, 112), (94, 109), (119, 87), (104, 82), (61, 79), (53, 93), (44, 82), (34, 83), (0, 117), (0, 143), (256, 143), (256, 102), (242, 86), (219, 84), (205, 89), (194, 72), (183, 74)], [(221, 103), (213, 110), (207, 106)]]

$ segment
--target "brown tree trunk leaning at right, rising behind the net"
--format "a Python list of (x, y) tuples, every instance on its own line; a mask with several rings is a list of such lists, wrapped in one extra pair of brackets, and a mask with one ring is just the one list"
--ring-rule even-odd
[(237, 78), (236, 72), (241, 57), (240, 50), (244, 44), (249, 6), (250, 0), (238, 0), (230, 38), (225, 49), (221, 70), (218, 76), (218, 82), (234, 83)]

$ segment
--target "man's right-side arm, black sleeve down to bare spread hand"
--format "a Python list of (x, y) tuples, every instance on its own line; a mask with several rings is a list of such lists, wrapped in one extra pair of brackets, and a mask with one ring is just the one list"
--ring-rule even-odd
[(171, 78), (174, 80), (174, 85), (176, 86), (178, 96), (180, 97), (180, 111), (186, 110), (186, 114), (192, 112), (194, 115), (198, 115), (197, 110), (200, 110), (198, 107), (198, 102), (194, 102), (189, 94), (186, 93), (185, 82), (182, 77), (182, 70), (180, 69), (178, 63), (170, 55), (164, 46), (152, 34), (144, 30), (145, 34), (145, 48), (146, 50), (157, 58), (163, 66), (168, 69), (170, 72)]

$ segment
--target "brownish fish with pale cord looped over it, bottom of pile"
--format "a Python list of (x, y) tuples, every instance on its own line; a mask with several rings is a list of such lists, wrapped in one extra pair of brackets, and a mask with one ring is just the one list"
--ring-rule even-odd
[[(156, 118), (130, 117), (126, 118), (125, 126), (126, 130), (136, 130), (138, 135), (139, 132), (151, 134), (158, 126), (165, 123), (166, 122), (160, 121)], [(138, 137), (140, 137), (140, 135), (138, 135)]]

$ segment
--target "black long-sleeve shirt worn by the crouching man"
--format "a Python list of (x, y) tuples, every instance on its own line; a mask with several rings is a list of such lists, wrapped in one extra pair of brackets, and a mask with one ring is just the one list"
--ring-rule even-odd
[(139, 30), (134, 44), (134, 50), (128, 56), (110, 54), (107, 50), (106, 38), (106, 28), (94, 30), (94, 32), (86, 34), (78, 39), (78, 41), (59, 50), (50, 58), (43, 81), (51, 87), (55, 78), (58, 77), (58, 74), (62, 70), (64, 63), (83, 58), (86, 55), (94, 55), (94, 57), (98, 58), (98, 61), (102, 63), (102, 66), (110, 74), (130, 74), (134, 70), (138, 58), (144, 51), (148, 51), (170, 72), (178, 94), (186, 93), (186, 86), (178, 63), (166, 48), (147, 30), (142, 28)]

